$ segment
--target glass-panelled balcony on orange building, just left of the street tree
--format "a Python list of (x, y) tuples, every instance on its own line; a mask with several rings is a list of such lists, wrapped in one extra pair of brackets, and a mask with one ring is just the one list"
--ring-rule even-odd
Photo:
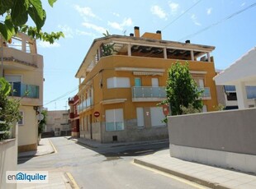
[(152, 102), (166, 99), (164, 86), (134, 86), (131, 88), (133, 102)]

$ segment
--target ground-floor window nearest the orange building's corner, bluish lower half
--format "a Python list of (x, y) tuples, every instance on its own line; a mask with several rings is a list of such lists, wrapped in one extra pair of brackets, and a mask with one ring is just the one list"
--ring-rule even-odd
[(106, 131), (124, 130), (123, 109), (106, 110)]

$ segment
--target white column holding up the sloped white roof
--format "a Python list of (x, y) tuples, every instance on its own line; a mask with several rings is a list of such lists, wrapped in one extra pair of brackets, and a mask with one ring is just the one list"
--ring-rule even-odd
[(247, 93), (244, 82), (238, 82), (235, 84), (237, 103), (239, 109), (248, 108), (247, 104)]

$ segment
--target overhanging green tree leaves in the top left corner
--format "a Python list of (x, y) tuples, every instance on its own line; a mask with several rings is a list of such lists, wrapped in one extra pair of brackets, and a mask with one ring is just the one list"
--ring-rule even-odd
[[(57, 0), (48, 0), (51, 7)], [(12, 38), (17, 32), (26, 33), (32, 38), (48, 41), (50, 44), (55, 39), (64, 37), (62, 32), (43, 32), (41, 29), (45, 25), (46, 12), (40, 0), (0, 0), (0, 33), (6, 40)], [(26, 25), (28, 18), (36, 26)]]

